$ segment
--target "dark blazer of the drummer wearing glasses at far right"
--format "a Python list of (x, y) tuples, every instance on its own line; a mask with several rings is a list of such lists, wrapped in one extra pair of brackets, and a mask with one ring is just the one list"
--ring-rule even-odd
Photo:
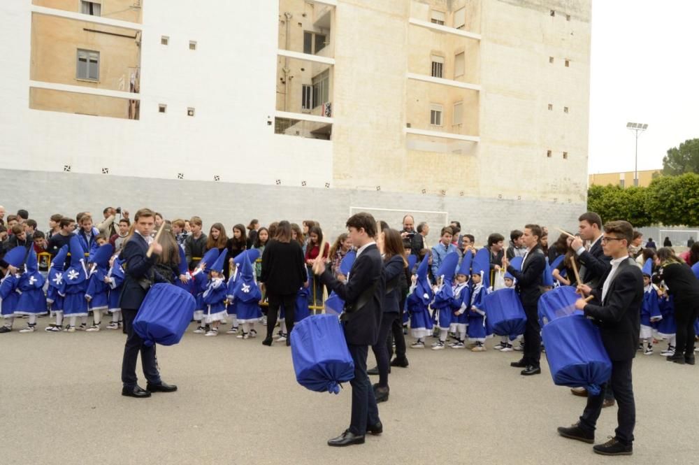
[(617, 268), (616, 276), (600, 305), (602, 287), (612, 271), (610, 266), (593, 289), (595, 303), (588, 303), (584, 312), (593, 317), (602, 333), (602, 342), (610, 359), (623, 361), (633, 359), (638, 348), (641, 306), (643, 305), (643, 275), (633, 259), (624, 260)]

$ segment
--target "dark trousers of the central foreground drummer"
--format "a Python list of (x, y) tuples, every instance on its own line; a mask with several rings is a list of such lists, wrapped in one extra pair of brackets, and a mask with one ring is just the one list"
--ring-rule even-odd
[(366, 345), (347, 344), (349, 355), (354, 361), (354, 378), (349, 382), (352, 386), (352, 420), (349, 431), (363, 436), (367, 424), (379, 422), (379, 408), (376, 406), (374, 389), (371, 388), (369, 376), (366, 374), (366, 356), (369, 348)]

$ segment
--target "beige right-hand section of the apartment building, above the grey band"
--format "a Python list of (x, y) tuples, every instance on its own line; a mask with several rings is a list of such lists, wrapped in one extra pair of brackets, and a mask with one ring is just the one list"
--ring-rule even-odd
[(584, 203), (590, 16), (589, 1), (280, 0), (275, 130), (331, 138), (336, 187)]

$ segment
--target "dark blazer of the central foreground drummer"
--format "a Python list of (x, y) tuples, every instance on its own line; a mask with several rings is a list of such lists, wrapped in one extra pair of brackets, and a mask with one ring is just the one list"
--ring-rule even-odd
[(338, 281), (330, 271), (325, 271), (320, 280), (324, 285), (335, 291), (340, 299), (348, 304), (357, 303), (363, 292), (377, 283), (373, 295), (366, 305), (352, 313), (347, 313), (345, 322), (345, 338), (352, 345), (374, 345), (379, 335), (381, 324), (381, 303), (385, 293), (383, 276), (383, 261), (376, 245), (370, 245), (356, 258), (349, 279), (346, 283)]

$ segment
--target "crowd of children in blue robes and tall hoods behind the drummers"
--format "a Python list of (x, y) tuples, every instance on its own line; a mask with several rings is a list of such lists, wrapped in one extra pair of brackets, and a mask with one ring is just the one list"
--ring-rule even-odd
[[(10, 237), (13, 240), (7, 238), (1, 251), (0, 306), (4, 322), (0, 333), (12, 331), (19, 317), (28, 319), (27, 327), (20, 329), (20, 333), (34, 332), (37, 317), (47, 314), (55, 317), (55, 322), (45, 327), (48, 332), (96, 332), (101, 329), (103, 315), (110, 315), (107, 329), (122, 327), (119, 296), (124, 269), (119, 255), (129, 237), (129, 219), (122, 217), (116, 222), (117, 229), (113, 209), (104, 213), (106, 220), (98, 226), (94, 226), (88, 213), (78, 215), (75, 222), (53, 215), (48, 237), (37, 234), (40, 231), (36, 231), (36, 222), (25, 219), (24, 226), (18, 226), (16, 217), (8, 218), (13, 220)], [(220, 223), (211, 227), (208, 236), (203, 234), (199, 217), (169, 222), (158, 215), (156, 225), (166, 228), (177, 249), (175, 269), (166, 280), (196, 297), (192, 315), (197, 322), (194, 333), (217, 336), (221, 325), (230, 322), (227, 334), (236, 334), (241, 339), (255, 338), (256, 324), (264, 324), (266, 308), (264, 285), (258, 283), (261, 272), (258, 259), (268, 241), (273, 240), (275, 223), (259, 227), (259, 222), (253, 220), (247, 228), (236, 224), (230, 239)], [(249, 236), (246, 229), (250, 230)], [(293, 239), (303, 246), (307, 260), (312, 261), (322, 253), (333, 272), (340, 273), (340, 260), (351, 247), (346, 235), (340, 236), (329, 250), (316, 222), (303, 222), (303, 229), (294, 224), (292, 230)], [(29, 232), (34, 241), (27, 240)], [(503, 236), (492, 234), (488, 247), (475, 250), (473, 236), (459, 236), (459, 231), (450, 227), (440, 232), (439, 243), (431, 249), (417, 251), (415, 259), (410, 261), (412, 285), (403, 315), (405, 331), (409, 324), (415, 338), (410, 347), (424, 348), (426, 338), (433, 337), (436, 339), (431, 346), (433, 350), (468, 347), (473, 352), (483, 352), (487, 338), (493, 336), (484, 299), (490, 292), (516, 285), (510, 273), (497, 266), (498, 259), (505, 255)], [(512, 243), (507, 256), (521, 257), (515, 243), (517, 237), (512, 234), (510, 237)], [(322, 244), (326, 247), (321, 251)], [(406, 254), (415, 255), (410, 239), (404, 240), (404, 247)], [(41, 270), (40, 262), (47, 254), (51, 256), (50, 267)], [(563, 252), (556, 257), (545, 271), (544, 290), (574, 285), (570, 273), (575, 268), (574, 262), (574, 254)], [(647, 254), (642, 267), (645, 299), (639, 350), (652, 355), (654, 344), (665, 340), (668, 348), (661, 355), (672, 356), (676, 345), (672, 296), (666, 292), (667, 286), (661, 280), (653, 255)], [(312, 274), (309, 277), (312, 279)], [(300, 289), (294, 320), (309, 315), (309, 308), (322, 306), (322, 295), (319, 283), (313, 283), (310, 289)], [(283, 309), (278, 321), (278, 341), (285, 341), (288, 334)], [(501, 336), (494, 348), (502, 352), (521, 350), (521, 343), (517, 345), (511, 337)], [(452, 341), (447, 342), (447, 338)]]

